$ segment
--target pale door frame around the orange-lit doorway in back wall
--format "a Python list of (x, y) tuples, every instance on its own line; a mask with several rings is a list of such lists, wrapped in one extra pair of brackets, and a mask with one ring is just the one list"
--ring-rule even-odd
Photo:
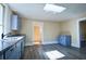
[(44, 22), (33, 22), (33, 36), (32, 36), (33, 44), (35, 44), (34, 43), (34, 40), (35, 40), (35, 38), (34, 38), (34, 26), (36, 26), (36, 24), (41, 29), (41, 31), (40, 31), (40, 34), (41, 34), (41, 43), (40, 44), (42, 44), (42, 42), (44, 42)]

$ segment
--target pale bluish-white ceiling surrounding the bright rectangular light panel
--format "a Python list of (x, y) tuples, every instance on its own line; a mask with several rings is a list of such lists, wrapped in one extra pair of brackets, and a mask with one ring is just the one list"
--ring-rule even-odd
[(56, 3), (65, 7), (62, 13), (51, 13), (44, 11), (45, 3), (9, 3), (9, 7), (17, 11), (24, 17), (39, 21), (66, 21), (86, 13), (85, 3)]

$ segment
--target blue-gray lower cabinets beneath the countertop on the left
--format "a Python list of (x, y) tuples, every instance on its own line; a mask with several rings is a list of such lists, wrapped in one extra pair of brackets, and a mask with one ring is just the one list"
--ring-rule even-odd
[(20, 40), (13, 47), (11, 47), (8, 51), (5, 51), (5, 60), (19, 60), (22, 57), (24, 52), (24, 40)]

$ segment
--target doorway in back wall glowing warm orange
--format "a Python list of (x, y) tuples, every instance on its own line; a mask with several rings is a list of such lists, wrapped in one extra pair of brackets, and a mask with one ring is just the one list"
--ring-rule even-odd
[(34, 36), (33, 36), (33, 39), (34, 39), (34, 44), (41, 44), (42, 42), (42, 23), (40, 22), (34, 22), (33, 24), (33, 31), (34, 31)]

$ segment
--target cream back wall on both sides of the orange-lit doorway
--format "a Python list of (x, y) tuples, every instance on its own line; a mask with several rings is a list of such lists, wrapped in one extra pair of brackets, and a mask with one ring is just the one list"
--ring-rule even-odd
[[(21, 34), (26, 34), (26, 46), (33, 44), (33, 22), (27, 18), (22, 18)], [(44, 42), (42, 44), (56, 43), (56, 37), (59, 35), (59, 23), (44, 22)]]

